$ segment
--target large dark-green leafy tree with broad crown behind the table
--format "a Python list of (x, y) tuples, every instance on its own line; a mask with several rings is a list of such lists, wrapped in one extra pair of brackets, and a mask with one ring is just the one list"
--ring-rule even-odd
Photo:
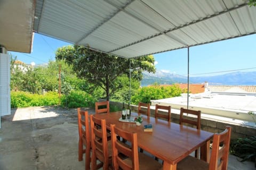
[[(129, 60), (106, 53), (96, 52), (84, 46), (65, 46), (57, 50), (55, 58), (73, 65), (78, 77), (105, 90), (106, 98), (119, 88), (117, 78), (129, 74)], [(132, 78), (142, 79), (142, 71), (155, 72), (153, 56), (131, 59)]]

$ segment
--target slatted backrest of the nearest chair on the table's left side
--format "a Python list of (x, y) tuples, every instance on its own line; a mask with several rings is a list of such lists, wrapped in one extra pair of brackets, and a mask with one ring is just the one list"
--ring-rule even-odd
[[(138, 141), (137, 133), (123, 131), (111, 124), (111, 142), (112, 142), (112, 159), (115, 170), (122, 168), (123, 170), (138, 170), (139, 169), (139, 155), (138, 155)], [(117, 140), (117, 136), (122, 137), (131, 143), (131, 147), (123, 145), (121, 141)], [(125, 155), (128, 158), (123, 159), (119, 155)]]

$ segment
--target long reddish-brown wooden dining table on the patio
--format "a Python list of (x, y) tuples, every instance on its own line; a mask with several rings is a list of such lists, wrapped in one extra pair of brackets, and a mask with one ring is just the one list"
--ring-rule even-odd
[[(137, 126), (136, 123), (119, 121), (121, 112), (95, 114), (94, 116), (105, 119), (108, 129), (110, 129), (110, 124), (115, 124), (126, 131), (137, 132), (138, 146), (162, 159), (164, 170), (177, 169), (177, 163), (199, 147), (201, 147), (201, 159), (209, 162), (210, 139), (213, 137), (211, 132), (147, 116), (142, 116), (143, 122)], [(134, 116), (138, 115), (132, 113), (132, 117)], [(144, 132), (143, 127), (146, 124), (152, 124), (153, 132)]]

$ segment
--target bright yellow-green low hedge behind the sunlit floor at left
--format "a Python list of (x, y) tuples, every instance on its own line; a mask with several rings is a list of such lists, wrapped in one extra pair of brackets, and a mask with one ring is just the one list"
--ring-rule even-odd
[(23, 91), (11, 92), (11, 107), (53, 106), (58, 105), (57, 92), (47, 92), (45, 95), (30, 94)]

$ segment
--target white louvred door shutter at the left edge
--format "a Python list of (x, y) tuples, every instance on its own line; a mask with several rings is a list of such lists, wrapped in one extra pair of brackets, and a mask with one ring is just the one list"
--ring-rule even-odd
[[(11, 114), (10, 56), (0, 53), (0, 116)], [(0, 118), (1, 128), (1, 118)]]

